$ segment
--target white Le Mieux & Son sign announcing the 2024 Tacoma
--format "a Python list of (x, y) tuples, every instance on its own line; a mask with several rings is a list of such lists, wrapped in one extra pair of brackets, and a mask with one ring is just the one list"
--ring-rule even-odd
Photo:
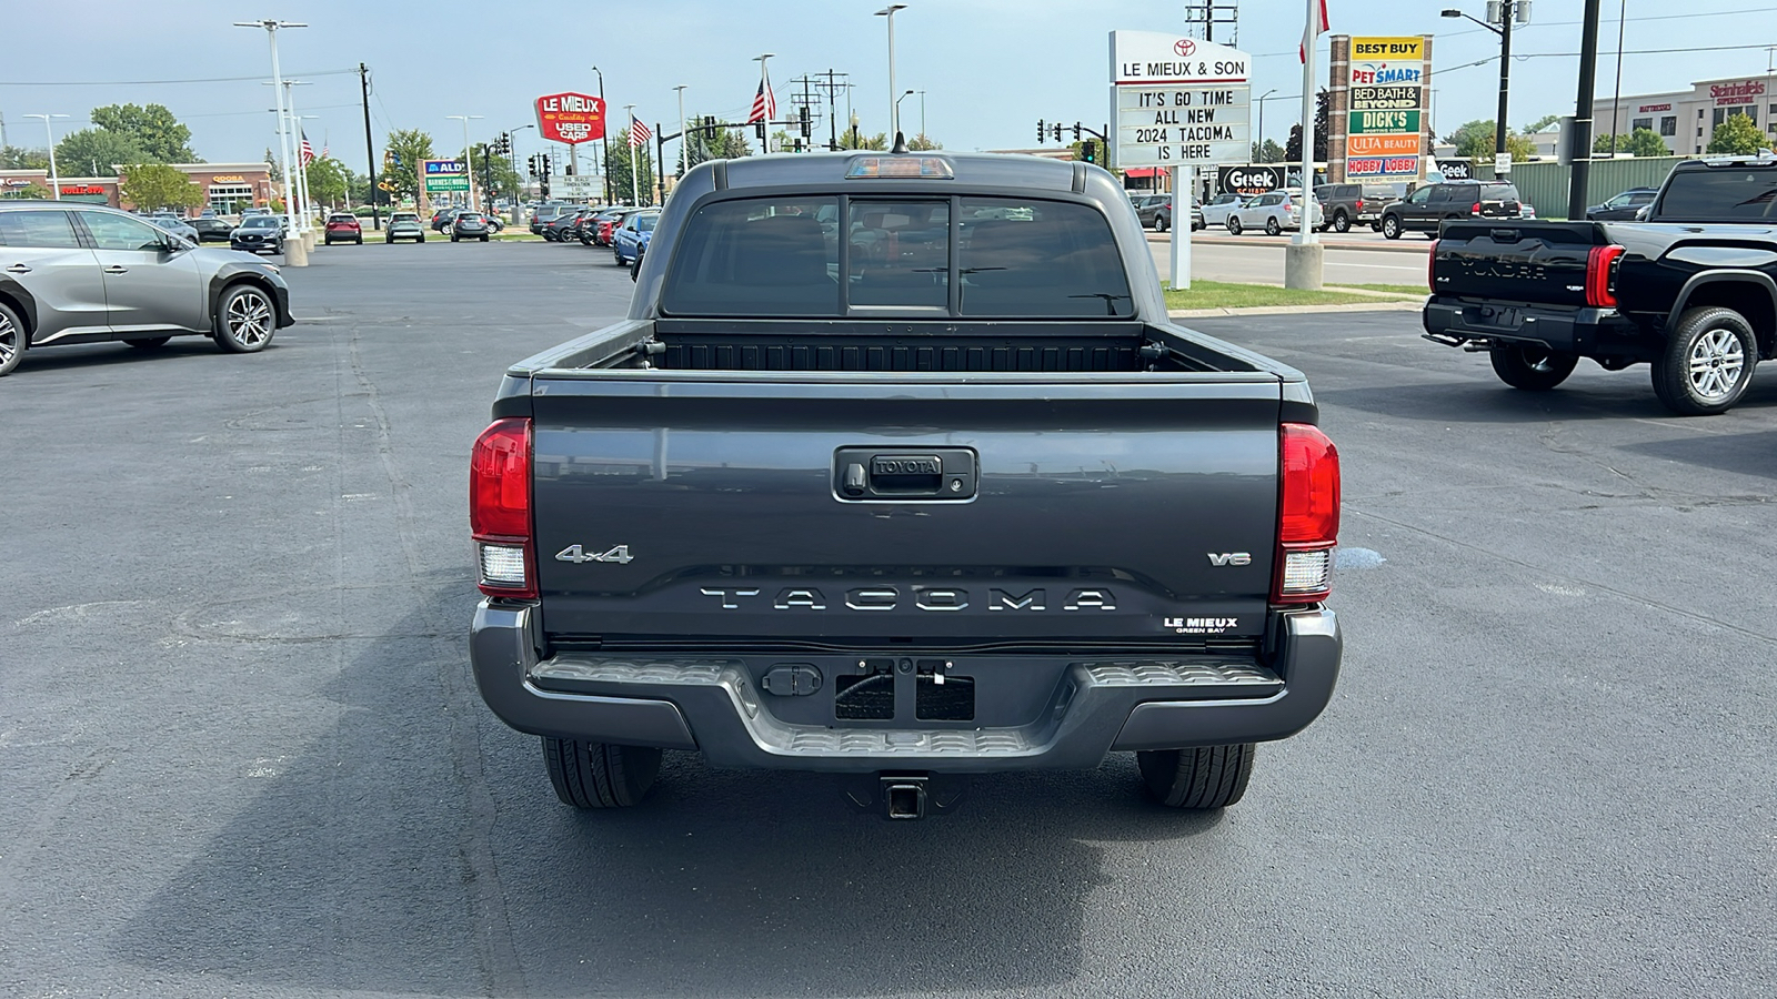
[(1111, 32), (1118, 167), (1239, 164), (1253, 155), (1253, 57), (1166, 32)]

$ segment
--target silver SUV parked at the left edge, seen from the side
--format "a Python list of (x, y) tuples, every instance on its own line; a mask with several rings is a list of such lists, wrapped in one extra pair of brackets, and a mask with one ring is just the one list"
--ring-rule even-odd
[(0, 201), (0, 375), (27, 348), (121, 340), (155, 348), (203, 334), (233, 354), (291, 325), (270, 263), (201, 249), (96, 204)]

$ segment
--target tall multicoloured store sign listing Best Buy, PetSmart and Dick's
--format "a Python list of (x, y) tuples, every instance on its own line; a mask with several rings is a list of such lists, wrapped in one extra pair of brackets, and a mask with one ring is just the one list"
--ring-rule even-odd
[(1425, 96), (1425, 39), (1351, 39), (1351, 110), (1345, 119), (1345, 176), (1418, 176), (1420, 108)]

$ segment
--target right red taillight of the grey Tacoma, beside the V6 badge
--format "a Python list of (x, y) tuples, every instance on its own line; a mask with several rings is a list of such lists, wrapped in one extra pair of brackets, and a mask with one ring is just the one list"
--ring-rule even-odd
[(1285, 423), (1278, 441), (1278, 571), (1274, 603), (1315, 603), (1333, 592), (1338, 544), (1338, 448), (1308, 423)]

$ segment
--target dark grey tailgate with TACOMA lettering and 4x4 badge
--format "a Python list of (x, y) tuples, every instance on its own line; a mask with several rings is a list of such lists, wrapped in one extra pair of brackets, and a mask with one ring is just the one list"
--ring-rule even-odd
[(1251, 638), (1279, 393), (1269, 373), (540, 372), (544, 631), (654, 647)]

